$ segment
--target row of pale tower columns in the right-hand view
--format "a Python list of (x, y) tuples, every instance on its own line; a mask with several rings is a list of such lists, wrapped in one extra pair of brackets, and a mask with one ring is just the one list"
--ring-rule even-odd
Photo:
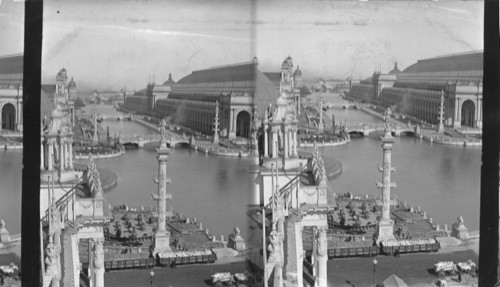
[(297, 130), (285, 128), (268, 129), (264, 126), (264, 157), (277, 158), (279, 148), (283, 148), (285, 158), (297, 157)]

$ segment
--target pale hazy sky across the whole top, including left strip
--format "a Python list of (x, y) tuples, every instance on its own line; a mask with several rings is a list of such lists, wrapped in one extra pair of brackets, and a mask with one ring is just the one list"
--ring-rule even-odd
[[(20, 6), (0, 5), (0, 55), (22, 52)], [(65, 67), (78, 90), (139, 90), (254, 56), (263, 72), (290, 55), (305, 79), (366, 78), (482, 50), (483, 2), (46, 0), (43, 31), (42, 81)]]

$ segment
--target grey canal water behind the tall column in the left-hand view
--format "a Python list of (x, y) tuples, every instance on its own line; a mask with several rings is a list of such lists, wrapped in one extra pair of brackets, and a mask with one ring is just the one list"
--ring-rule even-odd
[[(110, 134), (148, 134), (155, 131), (135, 122), (104, 120)], [(83, 161), (85, 162), (85, 161)], [(154, 145), (113, 159), (97, 160), (97, 166), (110, 169), (118, 175), (118, 186), (106, 194), (110, 204), (153, 206), (152, 192), (157, 185), (152, 178), (158, 174), (158, 161)], [(167, 176), (172, 183), (167, 186), (173, 199), (167, 202), (174, 211), (196, 217), (214, 235), (230, 234), (238, 226), (246, 235), (247, 204), (252, 202), (253, 179), (249, 176), (255, 168), (253, 159), (222, 158), (205, 155), (194, 150), (177, 147), (170, 150)]]

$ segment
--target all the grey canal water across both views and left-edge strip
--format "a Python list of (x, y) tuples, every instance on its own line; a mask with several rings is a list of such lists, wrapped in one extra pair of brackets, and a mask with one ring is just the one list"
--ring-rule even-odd
[[(337, 123), (377, 121), (356, 110), (330, 109)], [(105, 120), (102, 127), (111, 135), (147, 134), (152, 130), (128, 121)], [(337, 193), (379, 194), (375, 182), (381, 173), (382, 149), (378, 135), (352, 138), (342, 147), (320, 148), (326, 160), (342, 161), (342, 176), (330, 182)], [(469, 230), (479, 229), (480, 148), (449, 147), (430, 144), (413, 137), (395, 138), (392, 163), (398, 198), (423, 210), (440, 225), (451, 224), (463, 216)], [(85, 161), (83, 161), (85, 163)], [(152, 181), (157, 176), (156, 153), (153, 146), (128, 150), (126, 155), (98, 160), (99, 167), (118, 174), (118, 186), (107, 197), (111, 204), (154, 205)], [(178, 147), (171, 150), (168, 161), (169, 185), (173, 199), (167, 203), (175, 211), (196, 216), (210, 232), (229, 234), (234, 226), (246, 233), (246, 205), (254, 203), (255, 167), (252, 159), (219, 158)], [(0, 151), (0, 218), (11, 233), (21, 230), (22, 153)]]

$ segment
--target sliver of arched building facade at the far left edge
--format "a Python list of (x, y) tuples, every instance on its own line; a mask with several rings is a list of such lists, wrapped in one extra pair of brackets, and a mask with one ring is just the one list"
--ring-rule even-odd
[(23, 131), (23, 55), (0, 57), (0, 131)]

